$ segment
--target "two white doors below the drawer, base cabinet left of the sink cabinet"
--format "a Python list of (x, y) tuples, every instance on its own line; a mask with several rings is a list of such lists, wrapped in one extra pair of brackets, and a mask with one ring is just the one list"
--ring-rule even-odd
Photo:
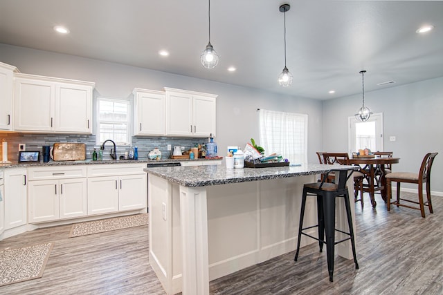
[(30, 223), (87, 215), (86, 178), (30, 181), (28, 198)]

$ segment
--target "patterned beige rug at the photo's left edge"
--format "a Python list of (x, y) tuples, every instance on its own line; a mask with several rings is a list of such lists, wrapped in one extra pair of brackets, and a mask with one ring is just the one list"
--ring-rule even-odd
[(0, 286), (41, 278), (53, 243), (0, 250)]

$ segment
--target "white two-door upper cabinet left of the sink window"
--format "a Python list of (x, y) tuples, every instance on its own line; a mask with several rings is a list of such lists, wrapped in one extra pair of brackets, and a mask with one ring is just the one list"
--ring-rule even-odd
[(92, 133), (92, 82), (14, 75), (14, 130)]

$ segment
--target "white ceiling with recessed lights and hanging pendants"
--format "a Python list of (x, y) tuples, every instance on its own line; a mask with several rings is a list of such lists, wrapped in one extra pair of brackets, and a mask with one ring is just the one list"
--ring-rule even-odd
[[(277, 81), (282, 3), (291, 5), (293, 84), (286, 88)], [(207, 0), (0, 0), (0, 43), (314, 99), (361, 93), (362, 69), (365, 92), (443, 77), (443, 1), (213, 0), (210, 16), (220, 56), (210, 70), (199, 60), (208, 44)], [(424, 24), (435, 29), (417, 34)], [(71, 33), (55, 33), (57, 25)], [(396, 83), (376, 85), (390, 80)]]

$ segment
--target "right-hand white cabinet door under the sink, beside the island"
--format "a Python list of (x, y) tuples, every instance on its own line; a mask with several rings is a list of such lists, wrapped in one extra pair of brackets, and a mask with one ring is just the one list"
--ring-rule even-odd
[(147, 174), (120, 176), (118, 209), (120, 211), (147, 207)]

